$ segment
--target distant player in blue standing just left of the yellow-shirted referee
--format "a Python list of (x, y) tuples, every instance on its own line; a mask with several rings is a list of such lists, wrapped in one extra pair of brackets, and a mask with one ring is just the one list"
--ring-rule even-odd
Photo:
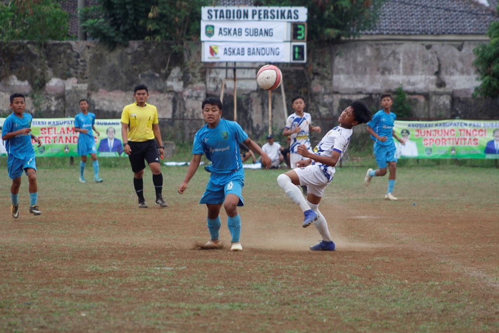
[(80, 183), (85, 183), (83, 172), (85, 171), (85, 163), (87, 162), (87, 155), (90, 154), (92, 159), (92, 166), (94, 169), (94, 182), (102, 183), (103, 180), (99, 178), (99, 161), (97, 161), (97, 149), (95, 149), (95, 140), (93, 131), (100, 135), (99, 131), (95, 129), (95, 114), (88, 112), (88, 101), (86, 99), (80, 100), (81, 112), (74, 116), (74, 131), (79, 132), (78, 136), (78, 155), (81, 156), (80, 161)]

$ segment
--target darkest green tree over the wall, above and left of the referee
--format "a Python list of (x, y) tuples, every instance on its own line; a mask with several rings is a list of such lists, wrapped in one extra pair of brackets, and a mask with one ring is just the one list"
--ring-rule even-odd
[(98, 0), (81, 10), (82, 26), (89, 37), (98, 39), (111, 49), (117, 44), (146, 37), (146, 19), (155, 0)]

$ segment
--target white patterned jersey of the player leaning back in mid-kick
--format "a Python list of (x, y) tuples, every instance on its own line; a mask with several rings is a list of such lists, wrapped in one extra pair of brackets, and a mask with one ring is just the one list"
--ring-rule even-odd
[[(333, 129), (329, 130), (326, 135), (320, 140), (320, 142), (313, 149), (313, 153), (319, 156), (331, 156), (333, 151), (340, 153), (340, 158), (343, 157), (346, 149), (348, 148), (348, 144), (350, 143), (350, 138), (352, 137), (352, 129), (351, 128), (343, 128), (340, 126), (336, 126)], [(319, 162), (313, 161), (312, 165), (318, 165), (324, 175), (326, 176), (328, 181), (331, 181), (334, 176), (334, 167), (326, 164), (322, 164)]]

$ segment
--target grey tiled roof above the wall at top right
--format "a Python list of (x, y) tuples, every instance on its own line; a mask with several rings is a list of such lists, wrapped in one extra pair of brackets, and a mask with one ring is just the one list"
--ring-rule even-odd
[(475, 0), (387, 0), (376, 28), (362, 34), (485, 34), (499, 20), (493, 2), (498, 1), (486, 6)]

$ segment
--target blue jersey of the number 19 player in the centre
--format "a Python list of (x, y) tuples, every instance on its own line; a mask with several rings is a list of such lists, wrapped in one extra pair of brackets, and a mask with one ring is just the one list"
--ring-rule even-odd
[(193, 154), (205, 154), (212, 165), (205, 169), (216, 175), (230, 175), (243, 169), (239, 144), (248, 134), (235, 121), (220, 119), (215, 128), (203, 126), (194, 137)]

